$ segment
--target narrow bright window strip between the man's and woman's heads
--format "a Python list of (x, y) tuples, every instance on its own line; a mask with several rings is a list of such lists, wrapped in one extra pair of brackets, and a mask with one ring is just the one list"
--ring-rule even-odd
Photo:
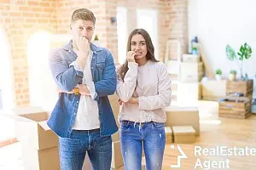
[(118, 35), (118, 59), (119, 64), (125, 63), (127, 43), (127, 9), (117, 8), (117, 35)]

